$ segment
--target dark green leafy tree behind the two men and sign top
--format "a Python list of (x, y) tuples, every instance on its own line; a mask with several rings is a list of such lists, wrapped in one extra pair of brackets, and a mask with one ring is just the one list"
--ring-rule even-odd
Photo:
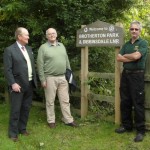
[[(0, 0), (1, 49), (14, 41), (18, 26), (29, 29), (35, 50), (45, 40), (45, 30), (54, 27), (59, 39), (67, 44), (69, 54), (78, 52), (76, 30), (96, 20), (115, 23), (129, 9), (133, 0)], [(119, 7), (118, 7), (119, 6)], [(62, 36), (62, 37), (61, 37)]]

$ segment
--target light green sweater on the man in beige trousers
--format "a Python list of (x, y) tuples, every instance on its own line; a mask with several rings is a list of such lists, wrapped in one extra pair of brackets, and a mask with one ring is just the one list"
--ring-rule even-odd
[(70, 69), (64, 45), (60, 42), (57, 42), (56, 46), (49, 42), (42, 44), (38, 51), (37, 68), (41, 82), (45, 81), (48, 76), (64, 75), (66, 69)]

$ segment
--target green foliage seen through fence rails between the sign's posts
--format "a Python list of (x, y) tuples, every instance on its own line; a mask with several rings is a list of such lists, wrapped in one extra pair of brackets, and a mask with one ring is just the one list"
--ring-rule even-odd
[[(91, 77), (87, 84), (90, 86), (90, 91), (95, 94), (106, 96), (114, 96), (115, 94), (114, 80)], [(93, 100), (92, 98), (89, 100), (89, 103), (92, 121), (96, 121), (97, 118), (100, 120), (108, 120), (108, 118), (114, 116), (114, 103), (109, 103), (107, 101), (101, 102)]]

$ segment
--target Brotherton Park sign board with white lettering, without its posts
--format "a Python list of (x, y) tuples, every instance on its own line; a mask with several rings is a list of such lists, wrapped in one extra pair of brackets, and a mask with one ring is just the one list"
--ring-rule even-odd
[(77, 47), (121, 46), (124, 41), (121, 27), (96, 21), (77, 30)]

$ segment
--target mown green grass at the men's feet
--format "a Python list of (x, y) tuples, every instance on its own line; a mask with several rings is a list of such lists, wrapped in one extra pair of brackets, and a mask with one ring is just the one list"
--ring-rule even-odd
[(9, 106), (0, 104), (0, 150), (150, 150), (150, 133), (143, 142), (134, 143), (136, 132), (118, 135), (112, 122), (81, 120), (78, 128), (72, 128), (61, 122), (60, 110), (56, 109), (57, 126), (50, 129), (46, 122), (45, 109), (32, 106), (28, 122), (30, 136), (19, 135), (14, 143), (7, 136)]

